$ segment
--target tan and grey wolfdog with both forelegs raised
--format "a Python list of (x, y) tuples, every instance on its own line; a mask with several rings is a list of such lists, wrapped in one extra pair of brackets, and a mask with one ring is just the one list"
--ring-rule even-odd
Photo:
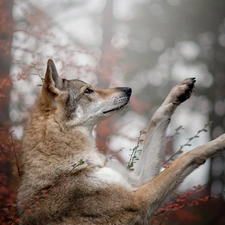
[(18, 216), (25, 225), (148, 224), (165, 198), (205, 160), (225, 148), (225, 135), (199, 146), (160, 172), (165, 131), (193, 91), (185, 79), (153, 115), (134, 171), (95, 146), (94, 126), (129, 102), (131, 88), (99, 90), (58, 76), (48, 60), (42, 92), (22, 140)]

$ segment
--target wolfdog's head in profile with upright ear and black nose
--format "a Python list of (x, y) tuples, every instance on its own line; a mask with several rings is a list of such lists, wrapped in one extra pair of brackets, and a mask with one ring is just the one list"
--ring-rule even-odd
[(129, 102), (131, 92), (128, 87), (100, 90), (80, 80), (62, 79), (50, 59), (42, 97), (51, 112), (70, 124), (93, 126), (123, 108)]

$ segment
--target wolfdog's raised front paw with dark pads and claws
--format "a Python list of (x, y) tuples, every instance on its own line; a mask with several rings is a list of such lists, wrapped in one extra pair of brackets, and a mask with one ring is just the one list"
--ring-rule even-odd
[(194, 90), (195, 78), (187, 78), (176, 85), (171, 91), (171, 102), (179, 105), (190, 98)]

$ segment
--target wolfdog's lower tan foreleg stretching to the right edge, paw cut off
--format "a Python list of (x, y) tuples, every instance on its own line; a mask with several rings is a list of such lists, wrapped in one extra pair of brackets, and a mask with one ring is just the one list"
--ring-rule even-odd
[[(183, 179), (209, 157), (225, 150), (225, 134), (184, 154), (172, 165), (135, 191), (136, 210), (146, 209), (148, 219)], [(147, 223), (146, 223), (147, 224)]]

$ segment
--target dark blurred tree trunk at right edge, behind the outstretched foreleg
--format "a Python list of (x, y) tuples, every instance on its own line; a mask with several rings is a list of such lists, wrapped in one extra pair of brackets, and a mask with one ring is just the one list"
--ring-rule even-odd
[[(225, 57), (225, 51), (221, 50), (221, 47), (216, 44), (215, 46), (216, 54), (220, 53), (221, 57)], [(225, 132), (225, 120), (223, 112), (224, 99), (225, 99), (225, 79), (224, 71), (225, 66), (223, 60), (218, 60), (216, 57), (213, 62), (210, 63), (212, 74), (214, 74), (213, 92), (208, 94), (213, 109), (209, 113), (209, 121), (212, 121), (211, 127), (211, 139), (217, 138), (219, 135)], [(221, 104), (222, 103), (222, 104)], [(209, 171), (209, 182), (208, 182), (208, 192), (209, 194), (218, 194), (223, 192), (225, 188), (225, 154), (221, 153), (215, 158), (210, 159), (210, 171)], [(214, 172), (216, 169), (216, 173)], [(218, 174), (218, 171), (219, 172)]]

